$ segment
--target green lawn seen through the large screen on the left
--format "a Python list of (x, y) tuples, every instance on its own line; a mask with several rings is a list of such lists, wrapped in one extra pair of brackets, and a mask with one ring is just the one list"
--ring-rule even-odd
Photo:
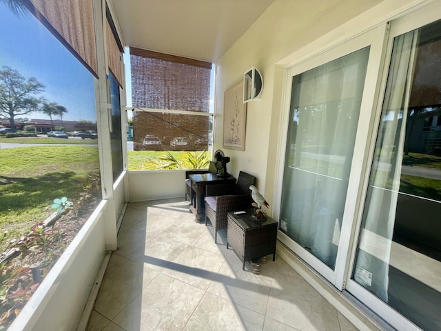
[(8, 148), (1, 150), (0, 169), (0, 226), (13, 237), (52, 214), (54, 199), (79, 197), (88, 175), (99, 172), (98, 148)]

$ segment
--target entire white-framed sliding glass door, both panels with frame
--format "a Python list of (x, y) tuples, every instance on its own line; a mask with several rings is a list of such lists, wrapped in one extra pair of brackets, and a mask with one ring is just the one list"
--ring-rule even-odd
[(287, 70), (278, 239), (397, 330), (441, 330), (440, 4)]

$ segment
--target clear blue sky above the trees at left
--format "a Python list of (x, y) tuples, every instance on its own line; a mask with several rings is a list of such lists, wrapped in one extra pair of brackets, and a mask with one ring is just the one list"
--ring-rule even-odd
[[(0, 3), (0, 67), (45, 86), (41, 96), (67, 108), (63, 120), (96, 121), (92, 74), (32, 14), (17, 17)], [(32, 112), (28, 117), (47, 119)]]

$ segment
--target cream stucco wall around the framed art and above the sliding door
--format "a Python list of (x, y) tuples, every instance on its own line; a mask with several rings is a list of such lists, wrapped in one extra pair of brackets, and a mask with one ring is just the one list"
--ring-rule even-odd
[(277, 151), (280, 143), (285, 144), (278, 141), (285, 68), (336, 39), (349, 38), (357, 30), (387, 21), (422, 2), (274, 1), (216, 63), (214, 150), (223, 147), (225, 90), (241, 81), (243, 73), (253, 66), (262, 73), (264, 81), (261, 99), (247, 103), (245, 151), (224, 150), (232, 159), (229, 171), (234, 176), (240, 170), (256, 176), (259, 191), (270, 204), (274, 202)]

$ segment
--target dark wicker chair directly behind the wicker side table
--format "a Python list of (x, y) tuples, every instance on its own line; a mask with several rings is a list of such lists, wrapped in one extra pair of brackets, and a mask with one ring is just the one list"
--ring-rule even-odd
[(228, 212), (252, 208), (249, 185), (254, 185), (255, 181), (256, 177), (241, 171), (236, 184), (205, 186), (205, 225), (208, 219), (212, 222), (215, 243), (218, 230), (227, 228)]

